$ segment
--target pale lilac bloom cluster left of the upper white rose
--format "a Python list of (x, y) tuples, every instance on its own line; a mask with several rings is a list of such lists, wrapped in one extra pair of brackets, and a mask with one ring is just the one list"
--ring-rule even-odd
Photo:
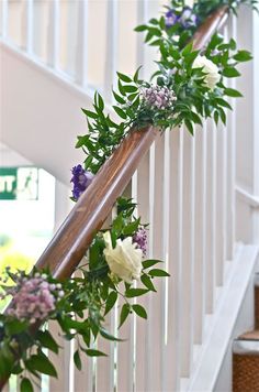
[(173, 106), (177, 97), (168, 87), (150, 86), (142, 89), (145, 104), (151, 109), (169, 109)]

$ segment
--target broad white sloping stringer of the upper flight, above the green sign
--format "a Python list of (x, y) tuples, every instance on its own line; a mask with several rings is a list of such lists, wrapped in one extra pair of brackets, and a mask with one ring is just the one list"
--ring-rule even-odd
[(85, 156), (74, 145), (87, 133), (81, 108), (92, 97), (22, 51), (0, 43), (0, 141), (68, 185)]

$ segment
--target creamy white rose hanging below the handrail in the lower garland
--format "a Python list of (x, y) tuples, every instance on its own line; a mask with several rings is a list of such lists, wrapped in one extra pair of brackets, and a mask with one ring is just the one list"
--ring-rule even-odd
[(105, 241), (104, 257), (108, 265), (115, 275), (127, 283), (134, 279), (139, 279), (142, 273), (143, 252), (136, 249), (136, 243), (132, 242), (132, 237), (116, 240), (116, 247), (112, 248), (110, 231), (104, 232)]

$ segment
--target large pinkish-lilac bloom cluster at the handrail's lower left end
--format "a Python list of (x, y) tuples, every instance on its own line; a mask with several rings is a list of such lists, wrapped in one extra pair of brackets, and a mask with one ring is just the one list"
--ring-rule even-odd
[(30, 277), (21, 277), (16, 283), (15, 287), (5, 292), (5, 296), (13, 297), (8, 315), (20, 320), (29, 320), (30, 324), (46, 319), (55, 309), (57, 298), (65, 294), (60, 283), (48, 283), (47, 275), (38, 272)]

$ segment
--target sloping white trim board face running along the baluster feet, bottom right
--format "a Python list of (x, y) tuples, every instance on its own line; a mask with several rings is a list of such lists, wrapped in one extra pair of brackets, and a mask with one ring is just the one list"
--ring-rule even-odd
[(211, 392), (214, 390), (232, 333), (245, 298), (254, 272), (259, 248), (239, 246), (224, 290), (218, 297), (215, 313), (206, 331), (206, 339), (200, 349), (200, 360), (193, 369), (192, 378), (184, 380), (181, 391)]

